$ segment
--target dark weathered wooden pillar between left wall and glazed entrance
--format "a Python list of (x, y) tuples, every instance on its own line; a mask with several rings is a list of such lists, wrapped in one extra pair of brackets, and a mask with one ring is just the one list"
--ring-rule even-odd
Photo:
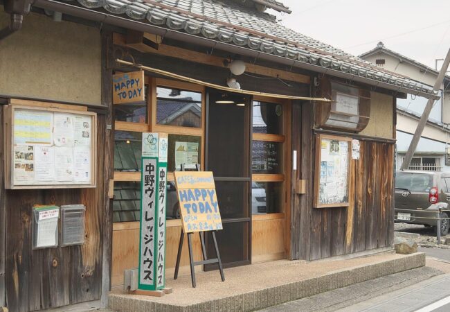
[[(113, 43), (112, 32), (102, 30), (102, 105), (107, 107), (106, 134), (105, 141), (102, 144), (105, 166), (103, 175), (98, 179), (103, 179), (102, 202), (104, 205), (102, 223), (102, 293), (100, 297), (100, 308), (105, 308), (108, 304), (108, 293), (111, 290), (111, 254), (112, 254), (112, 205), (109, 198), (109, 183), (113, 179), (114, 171), (114, 122), (112, 108), (112, 65)], [(99, 147), (100, 148), (100, 147)]]

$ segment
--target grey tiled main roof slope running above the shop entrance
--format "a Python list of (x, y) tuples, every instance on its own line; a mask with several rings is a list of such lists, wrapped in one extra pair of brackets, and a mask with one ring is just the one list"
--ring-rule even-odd
[[(73, 3), (73, 0), (66, 1)], [(84, 8), (104, 8), (113, 15), (126, 15), (129, 19), (147, 21), (174, 31), (402, 87), (410, 93), (433, 94), (433, 89), (427, 85), (380, 69), (286, 28), (267, 13), (255, 12), (237, 3), (218, 0), (78, 0), (78, 3)]]

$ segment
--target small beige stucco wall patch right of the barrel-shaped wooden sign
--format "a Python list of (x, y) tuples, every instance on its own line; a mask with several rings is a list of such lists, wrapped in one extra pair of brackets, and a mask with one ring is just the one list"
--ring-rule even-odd
[(370, 92), (370, 119), (361, 135), (393, 138), (393, 97)]

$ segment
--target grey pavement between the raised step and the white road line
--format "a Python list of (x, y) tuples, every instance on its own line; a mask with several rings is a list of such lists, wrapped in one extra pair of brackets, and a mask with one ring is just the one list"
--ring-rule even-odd
[[(450, 274), (442, 275), (442, 272), (438, 270), (424, 267), (294, 300), (262, 311), (415, 311), (429, 303), (449, 296), (449, 285)], [(429, 288), (423, 295), (411, 293), (412, 291), (420, 291), (424, 286), (429, 286)], [(401, 300), (404, 303), (397, 304), (396, 298), (406, 295), (406, 293), (411, 293), (411, 297), (402, 297)], [(414, 302), (416, 297), (420, 297), (422, 301)], [(387, 305), (379, 306), (380, 303), (386, 303)], [(407, 308), (411, 308), (411, 310)]]

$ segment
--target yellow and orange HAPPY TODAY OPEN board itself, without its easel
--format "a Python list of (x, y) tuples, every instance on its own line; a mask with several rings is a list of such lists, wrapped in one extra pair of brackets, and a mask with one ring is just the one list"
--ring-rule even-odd
[(175, 171), (183, 232), (222, 229), (213, 173)]

